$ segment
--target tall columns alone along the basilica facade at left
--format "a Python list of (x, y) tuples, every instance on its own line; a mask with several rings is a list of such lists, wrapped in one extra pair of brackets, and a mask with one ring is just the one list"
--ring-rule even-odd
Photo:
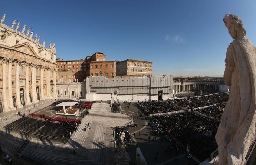
[[(16, 110), (16, 108), (13, 105), (13, 94), (12, 94), (12, 65), (13, 63), (16, 64), (16, 74), (15, 74), (15, 92), (16, 92), (16, 107), (22, 108), (23, 105), (21, 103), (20, 98), (20, 64), (21, 60), (14, 60), (13, 58), (3, 58), (3, 69), (2, 69), (2, 83), (3, 83), (3, 92), (2, 92), (2, 100), (3, 100), (3, 111), (10, 111), (10, 110)], [(26, 97), (26, 105), (37, 103), (39, 100), (37, 99), (37, 92), (36, 92), (36, 68), (37, 64), (26, 62), (26, 72), (25, 72), (25, 97)], [(8, 65), (8, 67), (7, 67)], [(29, 67), (31, 67), (31, 92), (32, 92), (32, 103), (30, 102), (30, 96), (29, 96)], [(8, 68), (8, 79), (6, 79), (6, 72)], [(40, 66), (40, 94), (41, 94), (41, 100), (49, 99), (51, 97), (51, 93), (47, 92), (47, 96), (45, 97), (44, 94), (44, 87), (43, 87), (43, 71), (44, 69), (47, 69), (47, 90), (50, 90), (50, 69), (49, 67)], [(53, 74), (53, 78), (55, 77), (55, 74)], [(6, 80), (7, 80), (7, 86), (6, 86)], [(7, 90), (8, 88), (8, 90)], [(55, 92), (54, 92), (55, 91)], [(7, 92), (8, 92), (8, 98), (7, 98)], [(53, 92), (54, 97), (56, 97), (56, 82), (55, 78), (53, 81)]]

